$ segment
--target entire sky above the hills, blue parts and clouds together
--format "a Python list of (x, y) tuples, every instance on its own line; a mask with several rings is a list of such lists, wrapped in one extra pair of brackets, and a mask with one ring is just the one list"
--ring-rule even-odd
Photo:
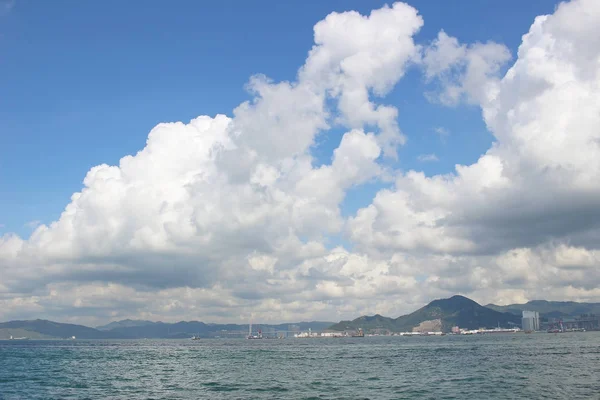
[(599, 19), (0, 0), (0, 320), (600, 301)]

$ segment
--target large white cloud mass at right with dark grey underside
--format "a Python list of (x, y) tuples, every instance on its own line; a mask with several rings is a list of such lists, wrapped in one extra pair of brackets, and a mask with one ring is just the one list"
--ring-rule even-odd
[[(485, 276), (504, 287), (523, 283), (530, 295), (541, 285), (585, 292), (600, 284), (597, 263), (588, 265), (586, 274), (567, 278), (548, 272), (559, 268), (557, 262), (539, 261), (552, 259), (542, 256), (548, 247), (564, 252), (566, 244), (595, 260), (600, 228), (599, 19), (595, 1), (563, 3), (554, 15), (538, 17), (502, 78), (494, 73), (498, 62), (508, 59), (505, 49), (495, 43), (462, 45), (441, 32), (425, 51), (426, 75), (439, 79), (443, 101), (458, 101), (463, 94), (476, 101), (496, 142), (475, 164), (457, 165), (454, 173), (399, 175), (393, 189), (379, 192), (350, 219), (349, 235), (359, 248), (461, 257), (460, 267), (445, 280), (463, 280), (460, 271), (472, 264), (464, 279), (476, 276), (463, 290), (481, 285)], [(489, 256), (506, 260), (504, 252), (510, 251), (522, 257), (510, 266), (501, 263), (508, 269), (500, 268), (498, 276), (499, 261)], [(481, 270), (475, 267), (478, 262)], [(509, 278), (515, 270), (522, 279)], [(436, 272), (432, 274), (435, 279)]]

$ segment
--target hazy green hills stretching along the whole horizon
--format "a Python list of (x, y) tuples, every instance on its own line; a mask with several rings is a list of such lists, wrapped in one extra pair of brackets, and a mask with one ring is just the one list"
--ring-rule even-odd
[[(397, 318), (376, 314), (351, 321), (294, 322), (259, 324), (265, 337), (287, 337), (300, 332), (356, 332), (390, 334), (394, 332), (451, 332), (453, 328), (515, 328), (521, 326), (523, 311), (536, 311), (542, 321), (600, 315), (600, 303), (577, 303), (534, 300), (525, 304), (482, 306), (460, 295), (434, 300), (426, 306)], [(210, 324), (200, 321), (176, 323), (126, 319), (95, 328), (48, 320), (9, 321), (0, 323), (0, 340), (28, 339), (185, 339), (242, 338), (248, 335), (248, 324)]]

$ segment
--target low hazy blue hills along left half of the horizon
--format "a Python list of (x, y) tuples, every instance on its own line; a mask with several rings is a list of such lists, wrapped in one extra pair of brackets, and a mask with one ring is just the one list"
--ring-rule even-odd
[[(290, 325), (306, 331), (309, 328), (321, 331), (332, 322), (296, 322), (289, 324), (255, 325), (254, 330), (263, 332), (287, 331)], [(90, 328), (83, 325), (63, 324), (47, 320), (9, 321), (0, 323), (0, 340), (14, 337), (30, 339), (183, 339), (194, 335), (200, 337), (244, 337), (248, 334), (247, 324), (206, 324), (199, 321), (176, 323), (152, 322), (143, 320), (123, 320)]]

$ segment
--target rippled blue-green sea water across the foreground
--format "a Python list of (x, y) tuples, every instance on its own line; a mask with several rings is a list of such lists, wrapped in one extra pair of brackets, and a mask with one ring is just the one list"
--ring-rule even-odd
[(600, 399), (600, 332), (0, 341), (0, 399)]

